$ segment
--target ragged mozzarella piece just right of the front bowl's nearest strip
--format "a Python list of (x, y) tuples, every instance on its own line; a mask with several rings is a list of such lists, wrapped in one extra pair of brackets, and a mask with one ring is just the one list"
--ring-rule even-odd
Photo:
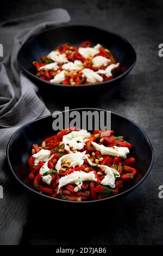
[(117, 170), (115, 170), (114, 168), (110, 168), (109, 166), (103, 166), (101, 164), (98, 164), (98, 167), (100, 167), (102, 170), (104, 170), (104, 172), (106, 174), (104, 176), (104, 179), (101, 181), (101, 184), (114, 188), (115, 180), (116, 180), (114, 174), (116, 174), (117, 178), (118, 178), (118, 177), (120, 177), (120, 173), (118, 173)]

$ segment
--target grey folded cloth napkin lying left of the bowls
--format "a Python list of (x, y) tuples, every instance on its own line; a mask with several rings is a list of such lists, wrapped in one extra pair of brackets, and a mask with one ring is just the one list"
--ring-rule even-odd
[(4, 52), (6, 47), (9, 50), (12, 45), (11, 54), (3, 60), (0, 70), (0, 185), (3, 186), (3, 198), (0, 198), (1, 245), (17, 245), (20, 242), (29, 205), (29, 194), (17, 186), (5, 163), (7, 143), (18, 127), (49, 114), (36, 94), (35, 84), (20, 71), (17, 53), (30, 36), (68, 21), (70, 16), (66, 10), (52, 9), (0, 23), (0, 42)]

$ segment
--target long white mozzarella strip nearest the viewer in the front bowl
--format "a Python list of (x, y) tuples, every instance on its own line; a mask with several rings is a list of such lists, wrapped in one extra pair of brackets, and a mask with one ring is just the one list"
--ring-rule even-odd
[(82, 170), (75, 171), (69, 175), (63, 176), (59, 180), (59, 186), (58, 186), (58, 193), (61, 187), (70, 184), (70, 183), (77, 183), (77, 182), (83, 182), (83, 181), (97, 181), (97, 178), (95, 176), (94, 172), (85, 173)]

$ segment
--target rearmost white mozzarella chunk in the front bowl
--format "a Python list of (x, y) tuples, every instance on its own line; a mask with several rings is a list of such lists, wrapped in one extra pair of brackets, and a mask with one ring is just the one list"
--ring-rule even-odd
[(72, 131), (71, 133), (63, 136), (62, 142), (64, 142), (65, 145), (68, 144), (69, 146), (73, 147), (73, 150), (80, 150), (84, 147), (85, 142), (88, 141), (87, 138), (90, 136), (90, 132), (87, 132), (86, 130)]

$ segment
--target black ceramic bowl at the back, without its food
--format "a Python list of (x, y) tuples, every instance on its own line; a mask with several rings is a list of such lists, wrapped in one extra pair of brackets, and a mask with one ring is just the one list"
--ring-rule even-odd
[[(73, 46), (79, 46), (83, 41), (90, 40), (93, 45), (101, 44), (109, 48), (114, 54), (116, 61), (120, 62), (121, 70), (115, 74), (115, 77), (107, 82), (87, 84), (87, 85), (64, 85), (57, 83), (50, 83), (35, 76), (35, 68), (32, 63), (43, 55), (47, 55), (56, 46), (60, 46), (66, 42)], [(136, 62), (136, 53), (133, 46), (124, 39), (121, 35), (106, 31), (105, 29), (93, 26), (62, 26), (53, 27), (40, 32), (30, 38), (18, 52), (18, 63), (20, 64), (24, 73), (37, 84), (42, 84), (46, 87), (91, 87), (111, 85), (124, 76), (126, 76), (131, 69), (133, 69)]]

